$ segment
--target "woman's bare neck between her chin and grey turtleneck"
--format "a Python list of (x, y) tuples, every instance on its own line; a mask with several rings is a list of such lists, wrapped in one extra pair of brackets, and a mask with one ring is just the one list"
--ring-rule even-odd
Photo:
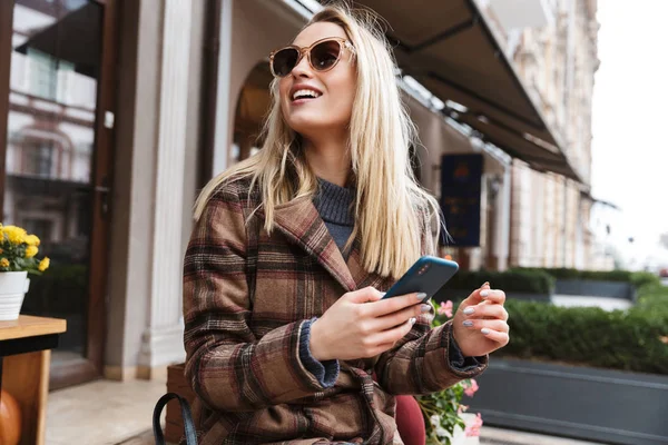
[(304, 152), (318, 178), (345, 187), (351, 172), (351, 155), (345, 138), (304, 138)]

